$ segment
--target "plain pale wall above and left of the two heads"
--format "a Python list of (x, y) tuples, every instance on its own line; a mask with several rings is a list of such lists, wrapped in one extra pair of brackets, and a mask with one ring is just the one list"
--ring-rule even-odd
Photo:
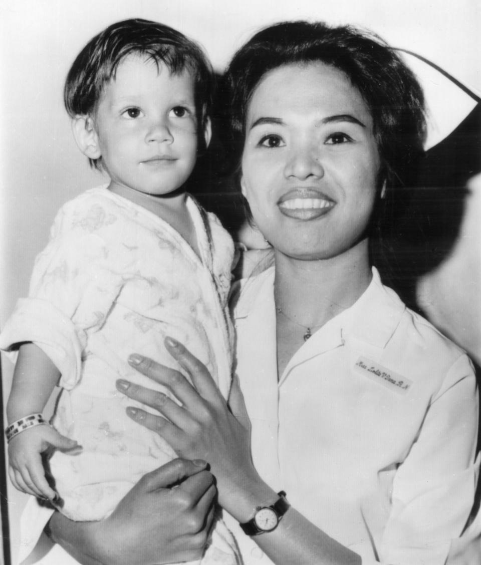
[[(2, 0), (0, 327), (16, 299), (28, 292), (33, 259), (46, 244), (56, 210), (106, 180), (89, 169), (73, 141), (63, 108), (63, 82), (91, 37), (114, 21), (132, 17), (162, 21), (198, 40), (218, 72), (259, 27), (319, 19), (368, 27), (478, 92), (481, 85), (478, 0)], [(450, 120), (456, 125), (462, 103), (450, 103), (436, 77), (425, 79), (425, 85), (436, 136), (451, 127)], [(5, 402), (11, 363), (3, 359), (2, 369)], [(25, 497), (12, 488), (7, 496), (15, 555)]]

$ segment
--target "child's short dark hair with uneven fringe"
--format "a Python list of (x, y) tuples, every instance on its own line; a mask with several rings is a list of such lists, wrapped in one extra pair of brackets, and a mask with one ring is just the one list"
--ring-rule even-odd
[[(212, 105), (213, 73), (202, 49), (168, 25), (156, 21), (119, 21), (93, 37), (70, 68), (64, 88), (65, 108), (71, 118), (95, 112), (106, 82), (115, 79), (117, 67), (129, 54), (145, 55), (163, 63), (173, 74), (187, 69), (195, 84), (199, 144), (203, 144), (205, 120)], [(100, 168), (99, 159), (90, 164)]]

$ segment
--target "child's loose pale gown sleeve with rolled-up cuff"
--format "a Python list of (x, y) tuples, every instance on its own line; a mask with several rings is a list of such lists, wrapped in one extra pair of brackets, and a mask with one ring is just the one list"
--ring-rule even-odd
[(80, 379), (88, 332), (102, 327), (123, 284), (112, 266), (105, 225), (92, 223), (91, 216), (91, 207), (66, 205), (59, 211), (34, 264), (29, 297), (18, 301), (0, 336), (0, 348), (12, 351), (14, 359), (21, 342), (40, 347), (67, 389)]

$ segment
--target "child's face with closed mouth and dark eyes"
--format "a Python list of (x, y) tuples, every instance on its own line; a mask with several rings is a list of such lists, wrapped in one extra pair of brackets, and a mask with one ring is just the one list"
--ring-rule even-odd
[(103, 88), (94, 129), (111, 190), (128, 189), (132, 197), (172, 193), (196, 160), (193, 77), (129, 55)]

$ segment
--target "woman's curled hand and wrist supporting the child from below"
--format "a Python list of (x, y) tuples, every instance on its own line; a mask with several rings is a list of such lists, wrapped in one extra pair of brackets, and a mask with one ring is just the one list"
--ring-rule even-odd
[(216, 488), (204, 461), (174, 459), (147, 473), (99, 522), (59, 512), (51, 538), (83, 565), (152, 565), (200, 559)]

